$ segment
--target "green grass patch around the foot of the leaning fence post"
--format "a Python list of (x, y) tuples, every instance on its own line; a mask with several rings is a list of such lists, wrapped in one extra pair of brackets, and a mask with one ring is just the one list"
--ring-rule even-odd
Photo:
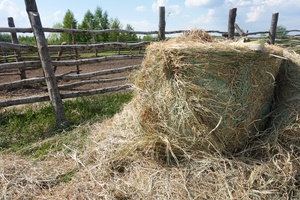
[(101, 122), (119, 112), (130, 101), (131, 93), (80, 97), (64, 101), (68, 129), (56, 126), (52, 106), (7, 109), (0, 112), (0, 154), (43, 158), (49, 153), (76, 147), (82, 148), (89, 125)]

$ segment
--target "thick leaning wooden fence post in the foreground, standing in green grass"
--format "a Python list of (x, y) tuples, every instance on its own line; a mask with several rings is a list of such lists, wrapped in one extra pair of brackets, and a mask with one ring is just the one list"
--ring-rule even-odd
[(58, 91), (58, 85), (54, 74), (53, 64), (48, 51), (48, 44), (43, 31), (41, 19), (38, 13), (35, 0), (25, 0), (26, 11), (36, 39), (36, 45), (40, 56), (41, 64), (45, 74), (45, 81), (48, 87), (49, 98), (52, 103), (56, 123), (67, 126), (62, 99)]

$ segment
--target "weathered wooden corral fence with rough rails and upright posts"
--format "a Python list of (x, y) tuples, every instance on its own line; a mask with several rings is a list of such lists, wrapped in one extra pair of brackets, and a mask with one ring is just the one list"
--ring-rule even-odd
[[(35, 95), (30, 97), (19, 97), (17, 99), (0, 100), (0, 108), (28, 104), (42, 101), (51, 101), (56, 121), (58, 124), (66, 123), (64, 112), (62, 109), (62, 99), (74, 98), (79, 96), (103, 94), (106, 92), (115, 92), (120, 90), (129, 89), (131, 86), (128, 84), (121, 84), (112, 87), (101, 87), (102, 83), (124, 81), (127, 77), (114, 77), (103, 78), (104, 75), (118, 74), (133, 69), (139, 68), (139, 64), (123, 66), (119, 68), (111, 67), (111, 69), (104, 69), (100, 71), (93, 71), (85, 73), (82, 70), (83, 65), (94, 64), (101, 65), (101, 62), (113, 61), (113, 60), (126, 60), (126, 59), (142, 59), (143, 50), (150, 42), (138, 41), (133, 43), (124, 42), (110, 42), (110, 43), (95, 43), (95, 44), (76, 44), (75, 34), (91, 34), (93, 36), (105, 33), (127, 33), (136, 35), (157, 35), (158, 40), (165, 40), (166, 35), (180, 34), (187, 30), (166, 31), (165, 23), (165, 8), (159, 8), (159, 24), (157, 31), (128, 31), (119, 29), (107, 29), (107, 30), (78, 30), (78, 29), (55, 29), (42, 27), (40, 17), (38, 14), (35, 0), (25, 0), (26, 10), (31, 23), (31, 28), (16, 28), (14, 21), (11, 17), (8, 18), (9, 27), (0, 27), (1, 33), (11, 33), (12, 43), (0, 42), (0, 51), (2, 56), (0, 57), (0, 78), (5, 76), (18, 75), (19, 80), (12, 82), (0, 82), (0, 92), (15, 90), (19, 88), (26, 88), (32, 85), (46, 83), (48, 94)], [(214, 35), (220, 35), (220, 37), (227, 39), (234, 39), (237, 35), (239, 37), (249, 37), (252, 35), (265, 34), (266, 40), (270, 44), (275, 43), (276, 27), (278, 21), (278, 13), (272, 15), (271, 26), (269, 31), (261, 32), (244, 32), (236, 23), (237, 9), (233, 8), (229, 10), (228, 16), (228, 31), (210, 30), (208, 33)], [(237, 33), (235, 33), (237, 31)], [(72, 44), (61, 45), (47, 45), (45, 39), (45, 32), (49, 33), (68, 33), (72, 35)], [(287, 30), (288, 32), (300, 32), (300, 30)], [(17, 33), (33, 33), (36, 39), (36, 46), (30, 46), (25, 44), (19, 44)], [(298, 35), (294, 35), (289, 40), (295, 40), (290, 45), (300, 45)], [(122, 53), (120, 49), (125, 49), (126, 53)], [(117, 52), (115, 55), (99, 56), (98, 53), (104, 51), (114, 50)], [(80, 58), (83, 52), (92, 51), (95, 52), (93, 58)], [(37, 60), (32, 60), (32, 57), (26, 57), (24, 55), (35, 54), (34, 57)], [(129, 53), (128, 53), (129, 52)], [(38, 57), (37, 57), (38, 56)], [(57, 73), (60, 67), (74, 67), (75, 69), (65, 72)], [(43, 74), (39, 77), (27, 77), (27, 72), (30, 70), (40, 69)], [(61, 84), (59, 85), (58, 82)], [(97, 84), (98, 88), (90, 90), (76, 91), (77, 87)], [(68, 92), (64, 90), (68, 89)], [(75, 90), (75, 91), (74, 91)], [(71, 92), (70, 92), (71, 91)]]

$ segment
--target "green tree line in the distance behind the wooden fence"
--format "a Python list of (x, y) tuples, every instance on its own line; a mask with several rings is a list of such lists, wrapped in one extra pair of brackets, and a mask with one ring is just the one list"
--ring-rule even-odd
[[(107, 11), (104, 11), (101, 7), (97, 6), (94, 13), (88, 10), (81, 22), (75, 19), (74, 13), (68, 9), (63, 17), (62, 22), (58, 22), (53, 25), (52, 28), (66, 28), (66, 29), (80, 29), (80, 30), (105, 30), (105, 29), (124, 29), (128, 31), (134, 31), (134, 28), (130, 24), (126, 24), (125, 27), (121, 24), (118, 18), (109, 18)], [(103, 33), (100, 35), (91, 34), (75, 34), (77, 43), (99, 43), (99, 42), (135, 42), (139, 40), (153, 41), (156, 40), (156, 36), (145, 35), (143, 38), (139, 38), (133, 33)], [(72, 43), (72, 35), (68, 33), (49, 33), (47, 35), (47, 41), (49, 44), (61, 44), (62, 42)], [(35, 39), (33, 36), (19, 35), (19, 43), (35, 45)], [(0, 33), (0, 42), (11, 42), (10, 34)]]

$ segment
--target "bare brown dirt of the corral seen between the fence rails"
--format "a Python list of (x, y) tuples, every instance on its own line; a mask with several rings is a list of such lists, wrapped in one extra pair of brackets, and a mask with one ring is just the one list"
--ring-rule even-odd
[[(106, 69), (114, 69), (114, 68), (120, 68), (125, 66), (132, 66), (132, 65), (140, 65), (142, 63), (142, 58), (134, 58), (134, 59), (124, 59), (124, 60), (112, 60), (112, 61), (103, 61), (99, 63), (93, 63), (93, 64), (86, 64), (86, 65), (80, 65), (79, 69), (80, 74), (89, 73), (89, 72), (96, 72)], [(55, 74), (76, 74), (76, 66), (62, 66), (58, 67)], [(110, 74), (110, 75), (104, 75), (96, 77), (97, 79), (109, 79), (109, 78), (116, 78), (116, 77), (127, 77), (130, 72), (122, 72), (117, 74)], [(26, 71), (27, 78), (34, 78), (34, 77), (42, 77), (43, 71), (42, 69), (36, 69), (36, 70), (28, 70)], [(0, 84), (3, 83), (9, 83), (13, 81), (20, 80), (19, 75), (4, 75), (0, 72)], [(76, 80), (77, 82), (80, 80)], [(62, 82), (59, 81), (58, 85), (63, 84), (69, 84), (71, 82), (76, 81), (68, 81), (68, 82)], [(115, 81), (115, 82), (109, 82), (109, 83), (98, 83), (98, 84), (89, 84), (80, 86), (77, 88), (74, 88), (72, 90), (61, 90), (62, 93), (70, 92), (70, 91), (85, 91), (89, 89), (98, 89), (98, 88), (106, 88), (110, 86), (117, 86), (122, 85), (126, 83), (126, 81)], [(8, 99), (18, 99), (21, 97), (28, 97), (33, 95), (44, 95), (47, 94), (47, 87), (45, 83), (42, 84), (35, 84), (34, 86), (29, 86), (22, 89), (12, 89), (12, 90), (5, 90), (0, 91), (0, 101), (8, 100)]]

